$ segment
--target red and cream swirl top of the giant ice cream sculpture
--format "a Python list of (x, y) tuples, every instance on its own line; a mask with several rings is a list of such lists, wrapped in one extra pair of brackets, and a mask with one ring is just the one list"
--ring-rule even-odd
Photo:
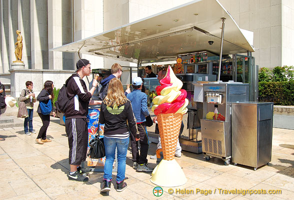
[(168, 113), (187, 112), (188, 99), (187, 92), (181, 89), (182, 82), (174, 75), (170, 66), (168, 66), (166, 75), (160, 81), (155, 90), (158, 96), (154, 97), (152, 111), (155, 115)]

